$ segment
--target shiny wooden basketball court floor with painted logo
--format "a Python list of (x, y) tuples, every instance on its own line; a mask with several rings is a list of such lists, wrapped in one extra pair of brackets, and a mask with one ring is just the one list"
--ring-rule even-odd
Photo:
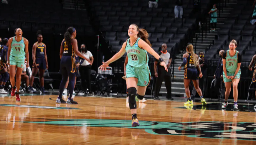
[[(137, 103), (140, 126), (131, 127), (125, 98), (75, 97), (78, 105), (56, 104), (57, 95), (0, 97), (0, 144), (10, 145), (236, 145), (256, 144), (253, 104), (239, 111), (221, 103), (193, 108), (178, 101)], [(66, 100), (66, 98), (64, 98)]]

